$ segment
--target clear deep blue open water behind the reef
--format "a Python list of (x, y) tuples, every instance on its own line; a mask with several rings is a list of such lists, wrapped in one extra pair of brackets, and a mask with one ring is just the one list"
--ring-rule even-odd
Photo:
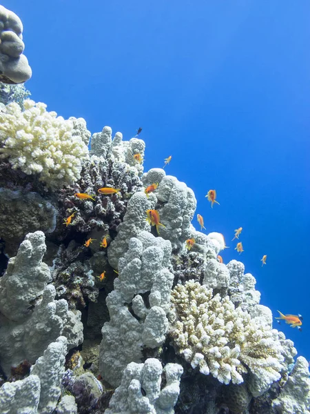
[(303, 315), (302, 332), (274, 326), (310, 359), (309, 1), (1, 3), (23, 21), (32, 99), (92, 133), (143, 127), (145, 170), (172, 155), (167, 173), (226, 237), (224, 262), (245, 263), (274, 316)]

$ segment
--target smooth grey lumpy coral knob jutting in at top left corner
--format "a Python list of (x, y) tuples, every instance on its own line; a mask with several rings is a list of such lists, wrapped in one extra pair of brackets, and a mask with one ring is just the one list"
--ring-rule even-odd
[(0, 6), (0, 81), (21, 83), (30, 79), (32, 70), (23, 55), (23, 23), (11, 10)]

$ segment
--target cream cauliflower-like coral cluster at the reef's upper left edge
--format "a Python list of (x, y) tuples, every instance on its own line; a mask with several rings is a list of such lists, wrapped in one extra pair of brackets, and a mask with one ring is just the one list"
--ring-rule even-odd
[(80, 178), (82, 161), (89, 157), (74, 123), (47, 112), (45, 103), (9, 103), (0, 112), (0, 157), (25, 174), (39, 174), (50, 188), (72, 184)]

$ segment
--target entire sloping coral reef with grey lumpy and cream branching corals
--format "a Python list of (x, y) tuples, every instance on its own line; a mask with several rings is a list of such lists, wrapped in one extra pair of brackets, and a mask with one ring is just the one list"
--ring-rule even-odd
[(309, 413), (308, 362), (168, 159), (143, 173), (107, 126), (89, 151), (84, 119), (21, 99), (23, 27), (0, 20), (0, 413)]

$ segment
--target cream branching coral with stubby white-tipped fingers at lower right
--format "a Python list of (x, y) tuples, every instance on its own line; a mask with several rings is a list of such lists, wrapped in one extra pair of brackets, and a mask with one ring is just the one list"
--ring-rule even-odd
[(213, 296), (213, 290), (186, 282), (172, 290), (174, 344), (200, 372), (220, 382), (240, 384), (251, 371), (269, 386), (279, 380), (282, 347), (267, 326), (258, 326), (250, 315), (234, 307), (229, 297)]

